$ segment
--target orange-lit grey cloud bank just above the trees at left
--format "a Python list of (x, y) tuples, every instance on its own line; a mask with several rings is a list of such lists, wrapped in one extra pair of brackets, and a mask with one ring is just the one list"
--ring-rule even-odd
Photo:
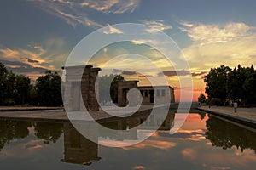
[(0, 48), (0, 62), (17, 73), (44, 73), (47, 70), (60, 71), (67, 54), (66, 43), (61, 38), (52, 38), (41, 46)]

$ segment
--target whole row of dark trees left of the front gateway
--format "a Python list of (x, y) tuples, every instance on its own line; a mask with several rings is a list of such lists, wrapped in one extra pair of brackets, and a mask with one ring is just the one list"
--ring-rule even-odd
[(30, 77), (8, 71), (0, 63), (0, 105), (60, 106), (61, 76), (46, 71), (32, 83)]

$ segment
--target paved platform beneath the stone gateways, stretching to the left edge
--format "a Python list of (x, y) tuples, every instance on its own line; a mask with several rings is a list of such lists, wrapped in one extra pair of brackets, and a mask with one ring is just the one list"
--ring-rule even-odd
[[(158, 105), (157, 107), (162, 107)], [(0, 111), (0, 119), (2, 120), (30, 120), (30, 121), (46, 121), (46, 122), (65, 122), (72, 120), (77, 121), (91, 121), (103, 120), (112, 118), (113, 116), (130, 116), (132, 113), (145, 113), (150, 111), (152, 105), (142, 105), (137, 111), (135, 107), (118, 108), (118, 107), (104, 107), (104, 111), (91, 111), (89, 114), (84, 114), (83, 111), (69, 112), (61, 110), (39, 110), (39, 111)], [(122, 110), (123, 109), (123, 110)], [(125, 111), (124, 111), (125, 109)], [(112, 113), (111, 115), (107, 114)], [(92, 117), (93, 119), (92, 119)]]

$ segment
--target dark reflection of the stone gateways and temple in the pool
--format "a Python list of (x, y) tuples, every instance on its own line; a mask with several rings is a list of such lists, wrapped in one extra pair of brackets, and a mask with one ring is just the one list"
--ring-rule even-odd
[[(166, 120), (164, 122), (160, 122), (160, 118), (158, 117), (149, 117), (150, 123), (144, 124), (142, 128), (144, 130), (149, 130), (151, 127), (160, 125), (160, 130), (170, 130), (173, 126), (175, 114), (168, 114), (166, 116)], [(126, 135), (124, 133), (119, 134), (119, 131), (115, 131), (116, 133), (112, 133), (106, 136), (106, 133), (102, 131), (102, 129), (95, 129), (94, 128), (94, 138), (98, 139), (99, 137), (103, 139), (112, 139), (114, 141), (123, 141), (123, 140), (137, 140), (138, 134), (137, 129), (133, 129), (133, 127), (137, 127), (138, 125), (142, 124), (148, 116), (135, 116), (130, 117), (128, 119), (121, 119), (117, 121), (109, 121), (102, 123), (102, 126), (116, 129), (116, 130), (123, 130), (126, 131)], [(91, 123), (82, 123), (81, 127), (91, 128)], [(81, 135), (71, 123), (65, 122), (64, 123), (64, 158), (61, 159), (62, 162), (67, 163), (75, 163), (75, 164), (83, 164), (83, 165), (90, 165), (91, 161), (98, 161), (101, 157), (98, 156), (98, 144), (95, 142), (86, 139), (83, 135)], [(129, 133), (128, 133), (129, 131)]]

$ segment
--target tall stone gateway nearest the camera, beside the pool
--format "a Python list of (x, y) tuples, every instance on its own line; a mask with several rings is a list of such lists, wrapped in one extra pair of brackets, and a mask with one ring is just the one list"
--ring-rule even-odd
[[(99, 111), (96, 77), (100, 68), (92, 65), (63, 67), (66, 71), (64, 103), (68, 111)], [(84, 106), (83, 106), (84, 105)]]

